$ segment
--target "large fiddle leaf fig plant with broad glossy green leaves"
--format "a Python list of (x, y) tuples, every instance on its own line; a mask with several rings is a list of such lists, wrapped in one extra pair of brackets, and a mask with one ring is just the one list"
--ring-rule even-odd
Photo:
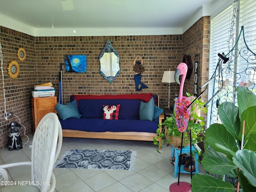
[[(203, 154), (201, 164), (212, 174), (238, 178), (240, 192), (252, 192), (256, 191), (256, 95), (246, 86), (236, 91), (238, 106), (222, 103), (218, 108), (221, 124), (214, 123), (205, 132), (210, 150)], [(192, 192), (236, 191), (232, 184), (208, 174), (195, 174), (191, 184)]]

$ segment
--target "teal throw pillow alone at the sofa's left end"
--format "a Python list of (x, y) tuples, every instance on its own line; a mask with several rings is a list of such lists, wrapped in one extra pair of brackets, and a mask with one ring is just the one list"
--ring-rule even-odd
[(72, 118), (72, 117), (80, 118), (79, 113), (77, 112), (74, 104), (72, 104), (72, 103), (63, 105), (63, 104), (59, 104), (59, 102), (58, 102), (55, 108), (62, 120), (66, 120), (66, 119)]

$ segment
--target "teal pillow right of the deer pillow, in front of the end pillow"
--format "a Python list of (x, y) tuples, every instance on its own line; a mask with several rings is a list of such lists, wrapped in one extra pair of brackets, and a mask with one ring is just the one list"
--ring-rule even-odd
[(152, 121), (154, 118), (154, 99), (149, 102), (140, 102), (140, 120)]

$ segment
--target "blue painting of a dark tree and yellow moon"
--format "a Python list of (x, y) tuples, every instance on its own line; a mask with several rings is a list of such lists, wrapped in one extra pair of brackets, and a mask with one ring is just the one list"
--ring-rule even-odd
[(86, 55), (65, 55), (66, 72), (87, 72)]

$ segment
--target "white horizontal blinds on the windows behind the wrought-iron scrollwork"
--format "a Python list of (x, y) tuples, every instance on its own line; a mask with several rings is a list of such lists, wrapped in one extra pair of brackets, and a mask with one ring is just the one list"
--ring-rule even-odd
[[(238, 5), (240, 6), (239, 11), (237, 12), (239, 22), (236, 22), (235, 20), (235, 22), (232, 23), (234, 12), (233, 5), (230, 5), (226, 10), (211, 19), (209, 78), (212, 77), (218, 64), (218, 53), (222, 54), (222, 52), (224, 52), (224, 54), (227, 54), (234, 47), (236, 38), (238, 37), (242, 26), (244, 26), (244, 36), (248, 48), (250, 48), (252, 52), (256, 52), (256, 1), (238, 0)], [(231, 30), (232, 28), (233, 30)], [(236, 30), (236, 28), (239, 30)], [(231, 33), (230, 31), (234, 33)], [(246, 44), (241, 36), (237, 44), (237, 49), (245, 50), (243, 48), (246, 48)], [(251, 52), (241, 51), (241, 56), (237, 57), (234, 62), (230, 64), (229, 62), (226, 64), (222, 63), (221, 70), (223, 80), (229, 79), (229, 85), (231, 86), (231, 89), (234, 90), (234, 87), (237, 87), (237, 84), (242, 80), (244, 80), (244, 82), (253, 79), (256, 80), (255, 68), (255, 56), (253, 57)], [(218, 74), (218, 70), (216, 74)], [(222, 83), (221, 80), (221, 77), (217, 77), (215, 81), (213, 80), (208, 84), (208, 99), (210, 99), (220, 88), (220, 84)], [(216, 104), (221, 104), (224, 101), (236, 102), (235, 97), (232, 94), (232, 92), (229, 93), (229, 90), (222, 90), (219, 95), (209, 103), (207, 127), (209, 127), (210, 124), (219, 122), (217, 113), (218, 108)]]

